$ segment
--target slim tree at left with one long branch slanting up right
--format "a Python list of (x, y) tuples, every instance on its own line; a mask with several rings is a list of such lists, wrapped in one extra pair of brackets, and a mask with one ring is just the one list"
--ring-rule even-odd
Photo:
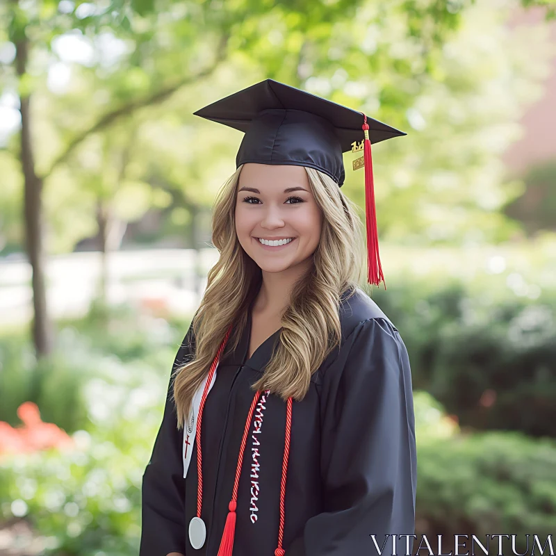
[[(145, 11), (145, 3), (134, 3), (136, 8)], [(113, 6), (108, 6), (112, 8)], [(77, 146), (112, 122), (124, 115), (133, 113), (138, 108), (161, 102), (163, 99), (185, 85), (186, 83), (202, 79), (210, 74), (216, 65), (224, 58), (228, 37), (224, 33), (220, 35), (215, 57), (208, 66), (190, 72), (172, 82), (166, 82), (152, 88), (146, 95), (127, 98), (126, 102), (120, 103), (117, 108), (108, 111), (98, 117), (95, 122), (76, 133), (67, 142), (62, 152), (54, 158), (43, 172), (38, 172), (35, 164), (35, 146), (33, 145), (33, 120), (31, 113), (31, 97), (33, 95), (33, 79), (28, 72), (30, 54), (33, 50), (50, 51), (52, 41), (56, 36), (63, 34), (70, 28), (83, 28), (88, 33), (98, 33), (106, 22), (116, 28), (117, 24), (123, 24), (126, 35), (131, 34), (131, 29), (126, 15), (120, 17), (124, 12), (124, 4), (120, 10), (103, 10), (97, 17), (90, 17), (89, 21), (79, 21), (76, 13), (70, 15), (60, 14), (57, 1), (44, 0), (34, 3), (23, 3), (19, 0), (10, 0), (7, 7), (8, 12), (8, 39), (15, 45), (15, 59), (13, 69), (19, 83), (19, 111), (21, 113), (21, 133), (19, 142), (19, 160), (22, 165), (24, 177), (24, 222), (25, 222), (25, 246), (31, 268), (33, 269), (33, 341), (38, 357), (48, 355), (53, 347), (52, 327), (49, 322), (46, 301), (46, 288), (44, 284), (44, 221), (42, 211), (42, 190), (44, 181), (74, 152)], [(79, 8), (79, 6), (78, 6)], [(115, 16), (114, 16), (115, 14)], [(66, 16), (66, 17), (64, 17)], [(84, 17), (83, 19), (88, 19)], [(118, 21), (119, 20), (119, 21)]]

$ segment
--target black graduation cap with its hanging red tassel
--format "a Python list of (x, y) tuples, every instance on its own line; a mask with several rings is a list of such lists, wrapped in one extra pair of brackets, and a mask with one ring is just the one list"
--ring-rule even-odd
[(245, 163), (307, 166), (325, 172), (341, 187), (345, 180), (342, 153), (363, 151), (353, 168), (365, 167), (368, 282), (378, 286), (384, 280), (370, 145), (407, 133), (274, 79), (265, 79), (193, 114), (245, 133), (236, 168)]

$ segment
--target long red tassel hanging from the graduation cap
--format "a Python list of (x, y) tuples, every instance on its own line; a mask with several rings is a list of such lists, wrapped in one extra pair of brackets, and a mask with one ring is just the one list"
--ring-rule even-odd
[[(378, 232), (377, 232), (377, 211), (375, 206), (375, 181), (373, 180), (373, 158), (370, 154), (369, 125), (367, 117), (361, 128), (365, 133), (363, 141), (363, 160), (365, 162), (365, 209), (367, 221), (367, 263), (368, 263), (368, 283), (376, 284), (384, 281), (382, 265), (378, 252)], [(384, 282), (386, 290), (386, 282)]]

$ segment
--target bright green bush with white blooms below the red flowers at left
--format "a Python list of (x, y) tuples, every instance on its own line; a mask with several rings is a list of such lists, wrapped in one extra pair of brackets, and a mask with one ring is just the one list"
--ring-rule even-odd
[(137, 553), (139, 469), (106, 441), (90, 452), (13, 459), (0, 464), (1, 514), (25, 516), (44, 539), (44, 554)]

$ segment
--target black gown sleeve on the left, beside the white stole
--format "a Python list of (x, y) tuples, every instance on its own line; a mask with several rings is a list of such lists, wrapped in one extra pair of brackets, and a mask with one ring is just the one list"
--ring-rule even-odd
[[(174, 360), (172, 374), (178, 366), (190, 359), (191, 336), (190, 327)], [(162, 424), (142, 477), (139, 556), (186, 553), (185, 480), (181, 454), (183, 430), (177, 429), (173, 388), (174, 381), (170, 375)]]

